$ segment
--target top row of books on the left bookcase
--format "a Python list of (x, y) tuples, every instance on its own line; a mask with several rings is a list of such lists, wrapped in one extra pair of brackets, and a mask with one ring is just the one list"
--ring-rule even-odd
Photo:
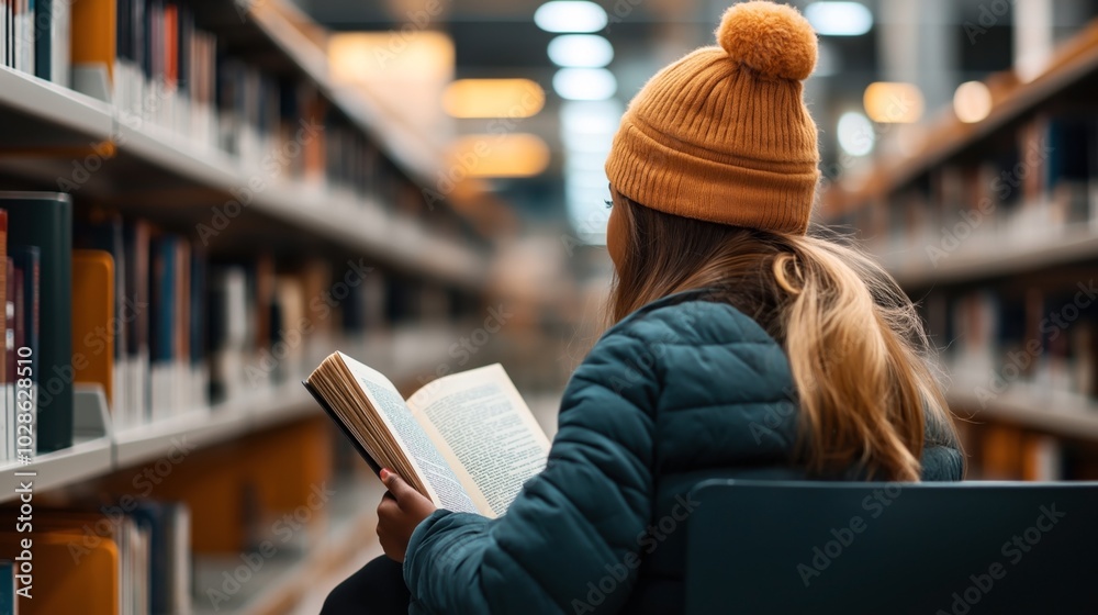
[(0, 64), (110, 102), (120, 130), (158, 126), (265, 181), (402, 209), (414, 195), (416, 213), (434, 206), (313, 81), (245, 59), (247, 49), (201, 25), (202, 7), (2, 0)]

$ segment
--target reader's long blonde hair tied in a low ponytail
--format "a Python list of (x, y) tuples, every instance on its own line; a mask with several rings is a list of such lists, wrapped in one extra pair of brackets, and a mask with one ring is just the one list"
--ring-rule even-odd
[(709, 289), (786, 350), (800, 425), (796, 463), (821, 477), (861, 468), (918, 481), (927, 444), (956, 446), (907, 295), (856, 248), (674, 216), (616, 195), (624, 249), (610, 295), (617, 322), (657, 299)]

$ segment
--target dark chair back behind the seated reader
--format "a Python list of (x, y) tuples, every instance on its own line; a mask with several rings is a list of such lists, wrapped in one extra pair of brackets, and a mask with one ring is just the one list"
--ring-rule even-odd
[(1098, 614), (1098, 483), (701, 483), (686, 613)]

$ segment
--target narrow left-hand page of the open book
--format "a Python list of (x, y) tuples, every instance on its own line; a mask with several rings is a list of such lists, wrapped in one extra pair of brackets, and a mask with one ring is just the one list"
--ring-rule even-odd
[(449, 463), (435, 447), (430, 437), (412, 415), (400, 392), (388, 378), (373, 369), (339, 354), (344, 365), (362, 388), (378, 415), (385, 422), (397, 446), (404, 451), (423, 476), (429, 489), (435, 492), (436, 504), (448, 511), (477, 513), (473, 504)]

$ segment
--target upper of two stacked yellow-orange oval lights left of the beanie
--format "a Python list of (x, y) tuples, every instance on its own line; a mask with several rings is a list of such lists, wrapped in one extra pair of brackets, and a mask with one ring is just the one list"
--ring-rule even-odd
[(460, 79), (442, 94), (452, 118), (531, 118), (545, 103), (545, 91), (530, 79)]

